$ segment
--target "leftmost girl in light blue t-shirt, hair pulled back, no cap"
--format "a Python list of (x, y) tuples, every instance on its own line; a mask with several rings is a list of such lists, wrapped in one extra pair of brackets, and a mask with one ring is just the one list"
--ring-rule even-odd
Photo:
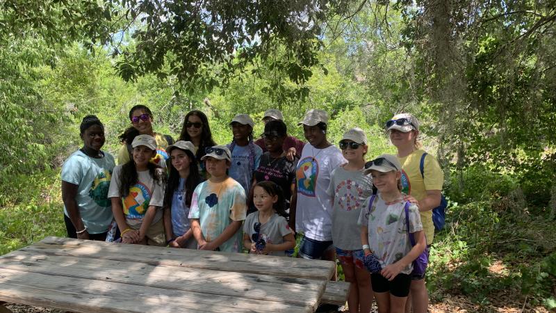
[(95, 115), (83, 118), (79, 127), (83, 147), (62, 166), (62, 199), (67, 236), (104, 241), (113, 218), (108, 186), (114, 157), (101, 151), (104, 125)]

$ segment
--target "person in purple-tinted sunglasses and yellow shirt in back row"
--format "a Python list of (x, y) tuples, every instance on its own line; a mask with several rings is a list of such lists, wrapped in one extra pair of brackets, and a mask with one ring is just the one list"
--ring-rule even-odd
[(138, 135), (149, 135), (156, 140), (156, 154), (152, 158), (152, 163), (155, 163), (162, 168), (166, 167), (166, 160), (169, 158), (166, 153), (166, 147), (174, 143), (174, 139), (170, 135), (162, 135), (155, 133), (152, 128), (152, 112), (147, 106), (138, 104), (133, 106), (129, 110), (129, 120), (131, 121), (131, 127), (124, 131), (118, 138), (123, 143), (122, 147), (117, 153), (117, 163), (125, 164), (131, 159), (131, 154), (133, 154), (133, 147), (131, 143), (133, 138)]

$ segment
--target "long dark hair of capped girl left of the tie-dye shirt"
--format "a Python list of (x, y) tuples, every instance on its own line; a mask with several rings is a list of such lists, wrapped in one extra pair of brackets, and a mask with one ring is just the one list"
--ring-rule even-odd
[[(174, 149), (179, 149), (179, 147), (174, 147)], [(193, 198), (193, 191), (195, 191), (195, 187), (201, 182), (201, 174), (199, 173), (199, 166), (197, 165), (197, 159), (193, 153), (189, 150), (179, 149), (183, 152), (186, 152), (187, 156), (189, 157), (189, 176), (186, 179), (186, 198), (183, 201), (186, 202), (187, 207), (191, 207), (191, 198)], [(169, 162), (170, 168), (170, 177), (168, 177), (168, 183), (166, 185), (166, 193), (164, 195), (164, 207), (171, 207), (172, 206), (172, 198), (174, 196), (174, 191), (179, 186), (179, 172), (174, 168), (172, 162)]]

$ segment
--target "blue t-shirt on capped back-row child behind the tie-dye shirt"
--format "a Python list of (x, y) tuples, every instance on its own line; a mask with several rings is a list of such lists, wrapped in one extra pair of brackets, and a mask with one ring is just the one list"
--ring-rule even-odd
[[(230, 147), (230, 145), (228, 145)], [(249, 194), (251, 188), (251, 179), (253, 172), (259, 167), (261, 155), (263, 150), (258, 145), (252, 145), (254, 155), (250, 145), (239, 146), (235, 145), (234, 150), (231, 151), (231, 166), (229, 169), (229, 176), (236, 180), (242, 187), (245, 194)], [(253, 166), (251, 159), (253, 158)]]

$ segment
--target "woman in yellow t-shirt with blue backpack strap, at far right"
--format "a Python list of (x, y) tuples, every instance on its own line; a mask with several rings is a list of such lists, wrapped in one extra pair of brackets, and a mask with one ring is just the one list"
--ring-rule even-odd
[[(398, 149), (398, 161), (402, 164), (402, 191), (408, 195), (406, 200), (415, 202), (423, 221), (423, 229), (427, 237), (427, 252), (434, 239), (434, 224), (432, 223), (432, 209), (438, 207), (441, 201), (441, 190), (444, 175), (430, 154), (420, 149), (417, 138), (419, 122), (411, 114), (395, 115), (386, 122), (386, 130), (390, 141)], [(420, 163), (423, 159), (423, 172)], [(407, 301), (407, 312), (413, 306), (414, 313), (427, 312), (429, 297), (425, 287), (425, 273), (411, 275), (411, 292)]]

